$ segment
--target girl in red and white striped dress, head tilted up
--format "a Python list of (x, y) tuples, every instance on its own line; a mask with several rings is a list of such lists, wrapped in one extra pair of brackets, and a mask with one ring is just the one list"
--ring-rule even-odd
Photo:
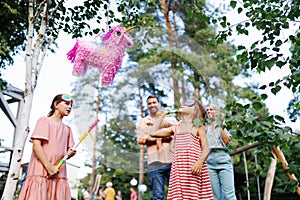
[[(204, 107), (190, 98), (178, 112), (181, 122), (151, 134), (153, 137), (174, 135), (175, 153), (170, 175), (168, 200), (213, 199), (206, 165), (209, 148), (204, 129)], [(164, 115), (161, 116), (161, 121)], [(159, 126), (160, 120), (157, 120)]]

